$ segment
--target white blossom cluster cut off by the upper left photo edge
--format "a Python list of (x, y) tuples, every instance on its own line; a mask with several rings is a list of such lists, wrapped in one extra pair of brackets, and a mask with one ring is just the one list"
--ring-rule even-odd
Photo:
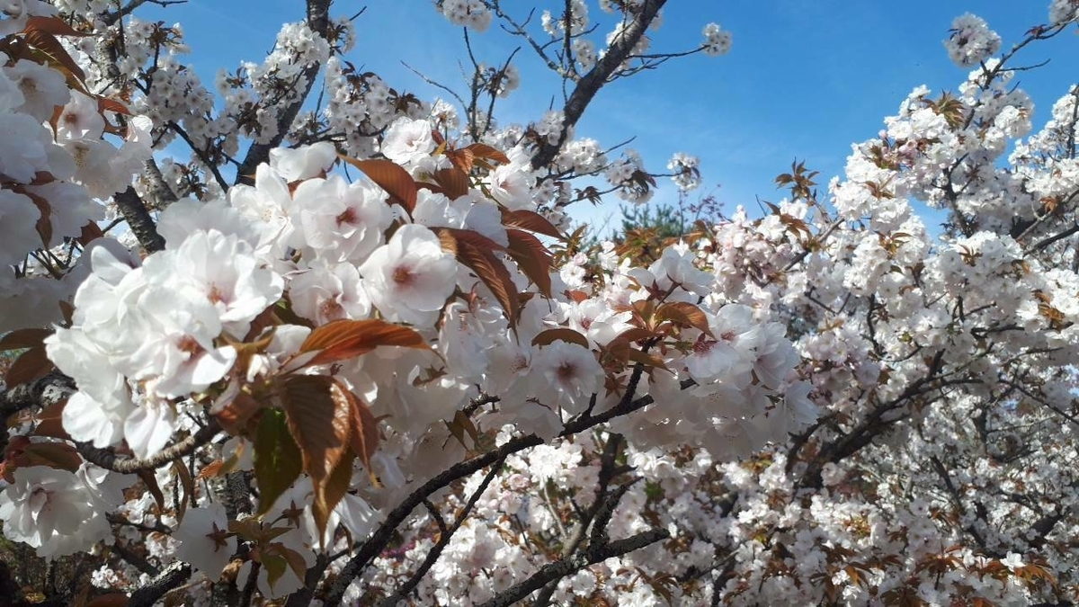
[[(42, 26), (28, 25), (31, 17), (55, 24), (54, 15), (51, 6), (30, 3), (5, 19), (4, 29), (26, 28), (36, 44), (56, 42), (37, 29)], [(0, 272), (0, 331), (11, 331), (59, 320), (56, 302), (69, 299), (85, 275), (68, 273), (65, 245), (106, 218), (104, 199), (128, 187), (150, 153), (150, 124), (88, 95), (78, 73), (50, 65), (32, 44), (2, 56), (0, 264), (9, 269)], [(121, 138), (119, 146), (112, 136)]]

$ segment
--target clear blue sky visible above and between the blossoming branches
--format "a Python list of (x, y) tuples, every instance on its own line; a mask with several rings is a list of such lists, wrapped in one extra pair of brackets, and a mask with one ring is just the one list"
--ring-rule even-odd
[[(503, 2), (520, 6), (516, 14), (521, 18), (532, 5), (540, 8), (538, 15), (544, 8), (557, 14), (561, 4)], [(461, 29), (432, 2), (338, 0), (332, 13), (351, 15), (365, 5), (350, 60), (423, 99), (447, 95), (406, 69), (402, 60), (464, 91)], [(719, 186), (715, 193), (729, 210), (755, 206), (755, 195), (781, 198), (771, 179), (795, 158), (819, 170), (820, 181), (827, 183), (843, 170), (850, 144), (873, 137), (915, 86), (954, 90), (966, 70), (948, 60), (941, 43), (954, 17), (965, 12), (982, 16), (1008, 49), (1032, 26), (1046, 22), (1047, 8), (1048, 0), (672, 0), (663, 27), (652, 35), (654, 51), (694, 48), (702, 39), (701, 27), (716, 22), (734, 33), (730, 53), (674, 59), (604, 87), (577, 134), (604, 145), (636, 136), (631, 147), (655, 171), (675, 151), (698, 156), (704, 191)], [(590, 9), (593, 17), (605, 17), (593, 2)], [(302, 17), (303, 2), (189, 0), (146, 15), (185, 26), (192, 60), (209, 84), (220, 67), (260, 60), (281, 24)], [(473, 35), (477, 58), (489, 64), (501, 64), (522, 43), (496, 26)], [(599, 36), (597, 43), (602, 43)], [(1015, 65), (1050, 58), (1048, 66), (1020, 76), (1021, 86), (1035, 99), (1036, 127), (1074, 82), (1068, 68), (1079, 64), (1079, 38), (1068, 31), (1036, 44)], [(496, 107), (502, 122), (524, 123), (542, 117), (552, 102), (561, 105), (559, 81), (530, 49), (521, 49), (515, 64), (522, 84)], [(666, 180), (663, 186), (655, 200), (674, 200), (673, 186)], [(587, 206), (582, 203), (581, 218), (593, 224), (617, 213), (614, 203), (599, 210)]]

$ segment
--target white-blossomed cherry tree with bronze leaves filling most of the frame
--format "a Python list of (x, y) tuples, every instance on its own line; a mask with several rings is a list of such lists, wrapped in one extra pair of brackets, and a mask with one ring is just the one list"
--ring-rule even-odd
[[(572, 204), (693, 189), (696, 159), (575, 125), (725, 53), (715, 24), (654, 50), (664, 0), (442, 0), (472, 73), (427, 102), (347, 60), (363, 16), (328, 0), (214, 91), (146, 3), (2, 8), (15, 604), (1079, 593), (1077, 89), (1032, 134), (1013, 82), (1073, 2), (1002, 54), (958, 17), (958, 89), (914, 90), (827, 192), (795, 163), (764, 216), (647, 249), (589, 246)], [(523, 59), (475, 56), (494, 24), (560, 109), (495, 120)]]

